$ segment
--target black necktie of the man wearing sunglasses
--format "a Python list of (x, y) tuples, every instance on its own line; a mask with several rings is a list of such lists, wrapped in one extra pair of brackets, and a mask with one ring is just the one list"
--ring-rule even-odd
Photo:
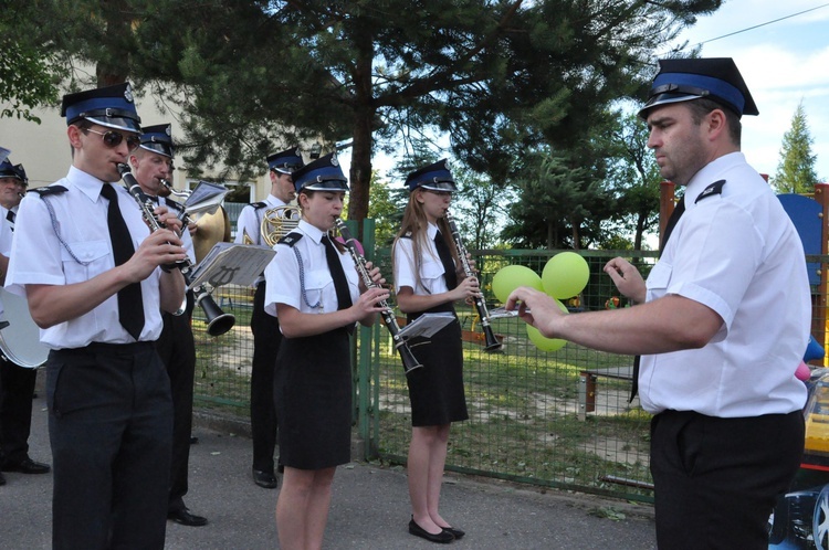
[[(115, 265), (122, 265), (133, 257), (133, 237), (129, 236), (127, 223), (120, 215), (118, 194), (109, 183), (104, 183), (101, 194), (109, 201), (106, 211), (106, 223), (109, 225), (109, 240), (113, 243)], [(138, 340), (144, 328), (144, 302), (140, 283), (133, 283), (118, 290), (118, 320), (133, 338)]]

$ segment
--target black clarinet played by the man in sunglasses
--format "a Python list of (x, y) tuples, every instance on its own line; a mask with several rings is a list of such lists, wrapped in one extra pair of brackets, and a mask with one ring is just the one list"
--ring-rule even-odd
[[(138, 181), (130, 173), (129, 166), (123, 163), (118, 165), (118, 172), (120, 173), (120, 177), (124, 180), (125, 187), (129, 191), (129, 194), (133, 195), (133, 198), (138, 203), (138, 207), (141, 209), (144, 221), (147, 222), (150, 231), (155, 232), (159, 229), (162, 229), (164, 224), (158, 221), (158, 218), (154, 212), (155, 203), (153, 202), (153, 199), (150, 199), (144, 191), (141, 191), (141, 187), (138, 184)], [(192, 282), (191, 273), (193, 264), (189, 258), (176, 262), (175, 264), (162, 265), (161, 268), (165, 271), (170, 271), (174, 268), (181, 269), (181, 274), (185, 276), (187, 286), (190, 286), (190, 283)], [(213, 297), (210, 296), (210, 290), (204, 285), (199, 285), (192, 290), (193, 297), (196, 298), (196, 305), (201, 307), (207, 317), (208, 334), (210, 336), (221, 336), (233, 328), (233, 325), (235, 325), (237, 322), (235, 317), (232, 314), (225, 314), (221, 310), (216, 300), (213, 300)], [(179, 309), (175, 311), (174, 315), (183, 314), (186, 307), (187, 298), (185, 298), (181, 307), (179, 307)]]

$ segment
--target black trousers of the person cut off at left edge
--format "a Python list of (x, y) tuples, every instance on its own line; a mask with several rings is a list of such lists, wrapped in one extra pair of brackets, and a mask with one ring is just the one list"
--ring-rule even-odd
[(25, 369), (0, 356), (0, 463), (29, 457), (35, 369)]

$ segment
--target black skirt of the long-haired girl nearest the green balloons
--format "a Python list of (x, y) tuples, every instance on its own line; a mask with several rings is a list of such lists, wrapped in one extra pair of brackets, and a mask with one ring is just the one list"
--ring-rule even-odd
[(468, 420), (463, 390), (463, 343), (458, 319), (431, 338), (412, 338), (409, 347), (423, 366), (406, 378), (411, 402), (411, 425), (440, 426)]

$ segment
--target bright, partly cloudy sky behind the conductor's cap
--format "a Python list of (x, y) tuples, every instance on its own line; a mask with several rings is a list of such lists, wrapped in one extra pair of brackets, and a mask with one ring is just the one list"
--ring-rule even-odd
[(726, 0), (680, 38), (691, 47), (702, 43), (703, 57), (737, 64), (759, 110), (743, 117), (742, 144), (757, 171), (777, 171), (783, 136), (802, 102), (815, 171), (829, 183), (829, 1)]

